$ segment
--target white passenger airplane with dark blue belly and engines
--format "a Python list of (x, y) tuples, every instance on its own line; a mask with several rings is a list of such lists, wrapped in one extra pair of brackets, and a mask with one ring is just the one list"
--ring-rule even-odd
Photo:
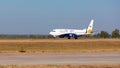
[(52, 35), (53, 37), (59, 37), (59, 38), (64, 38), (68, 37), (68, 39), (71, 39), (73, 37), (74, 39), (78, 39), (78, 36), (83, 36), (83, 35), (91, 35), (93, 34), (93, 24), (94, 20), (91, 20), (88, 28), (86, 29), (53, 29), (49, 34)]

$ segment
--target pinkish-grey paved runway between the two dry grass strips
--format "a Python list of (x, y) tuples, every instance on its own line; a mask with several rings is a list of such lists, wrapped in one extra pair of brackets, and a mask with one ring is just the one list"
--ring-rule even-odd
[(120, 64), (120, 52), (0, 54), (0, 65)]

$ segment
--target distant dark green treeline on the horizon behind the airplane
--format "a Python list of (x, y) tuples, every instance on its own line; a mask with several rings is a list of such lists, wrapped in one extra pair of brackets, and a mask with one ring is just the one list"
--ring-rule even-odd
[[(54, 38), (51, 35), (9, 35), (9, 34), (0, 34), (0, 39), (49, 39)], [(107, 31), (100, 31), (97, 34), (89, 35), (89, 36), (82, 36), (79, 38), (120, 38), (120, 31), (115, 29), (109, 34)]]

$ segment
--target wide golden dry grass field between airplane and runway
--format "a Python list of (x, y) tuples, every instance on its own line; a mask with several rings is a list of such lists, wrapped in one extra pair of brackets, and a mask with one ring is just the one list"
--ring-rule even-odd
[(0, 53), (120, 52), (120, 39), (0, 40)]

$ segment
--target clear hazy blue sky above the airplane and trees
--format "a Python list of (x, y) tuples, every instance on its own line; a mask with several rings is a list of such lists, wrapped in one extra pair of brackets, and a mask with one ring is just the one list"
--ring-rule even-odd
[(49, 34), (55, 28), (120, 29), (120, 0), (0, 0), (0, 34)]

